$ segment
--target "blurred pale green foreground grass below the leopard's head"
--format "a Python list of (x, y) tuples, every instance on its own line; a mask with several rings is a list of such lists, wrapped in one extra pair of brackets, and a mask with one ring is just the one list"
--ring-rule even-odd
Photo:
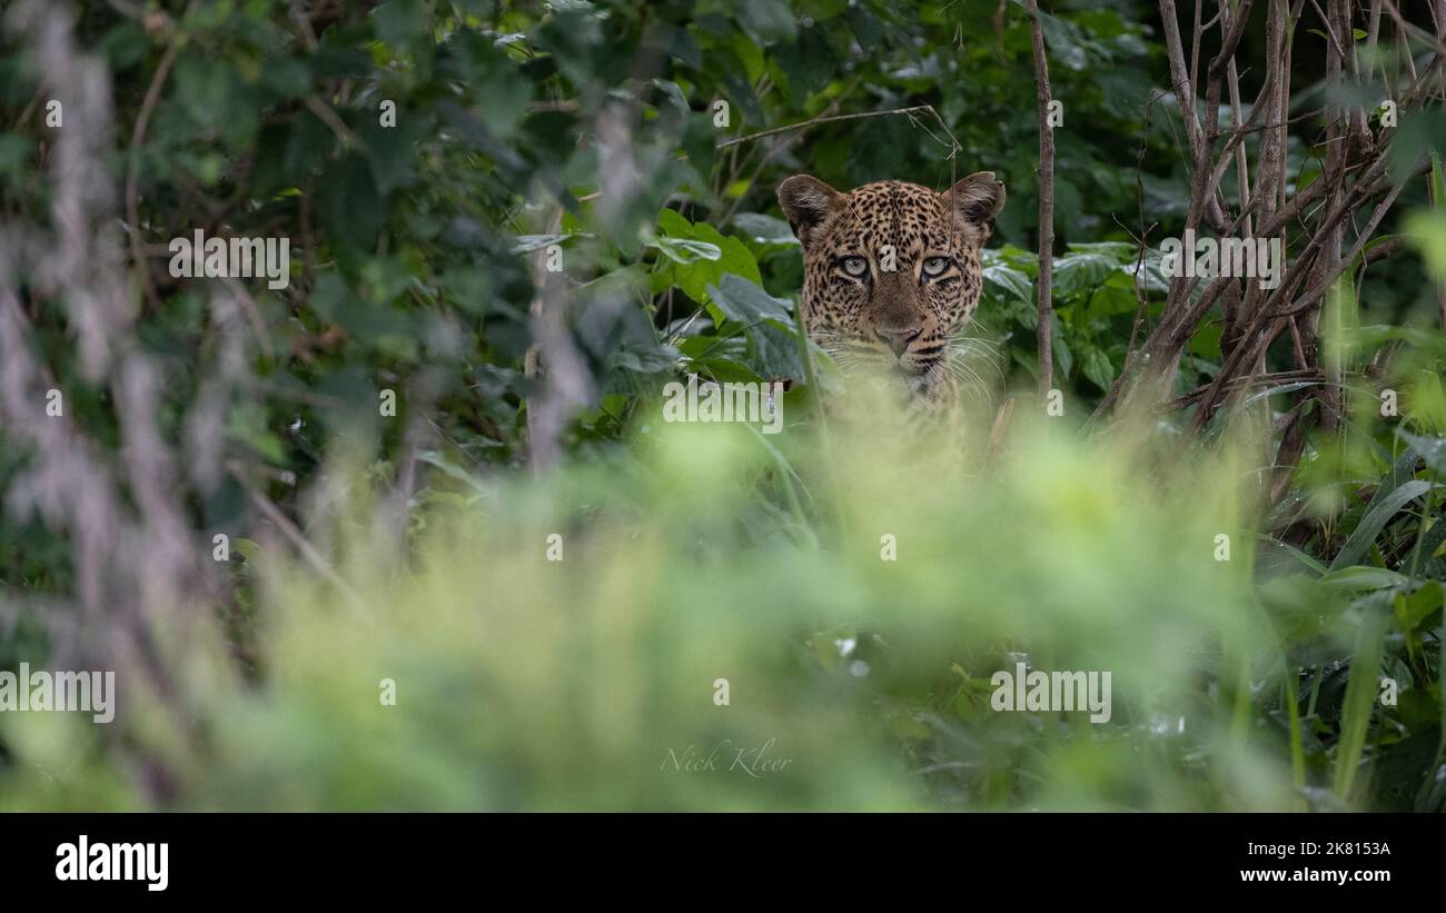
[[(121, 680), (123, 731), (0, 717), (17, 761), (0, 806), (146, 805), (117, 758), (188, 809), (1299, 805), (1288, 732), (1232, 725), (1249, 670), (1280, 662), (1233, 461), (1161, 477), (1021, 426), (993, 470), (949, 471), (842, 423), (829, 459), (803, 435), (654, 419), (607, 459), (458, 483), (405, 562), (357, 503), (334, 535), (367, 620), (256, 553), (257, 683), (192, 631), (176, 693)], [(759, 496), (779, 461), (811, 517), (842, 522), (792, 535)], [(989, 676), (1017, 659), (1109, 670), (1113, 718), (991, 711)], [(765, 744), (782, 770), (730, 769)], [(723, 745), (720, 770), (677, 770), (690, 745)]]

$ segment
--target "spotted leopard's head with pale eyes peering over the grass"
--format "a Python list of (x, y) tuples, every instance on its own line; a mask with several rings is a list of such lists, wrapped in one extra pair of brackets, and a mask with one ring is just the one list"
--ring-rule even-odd
[(950, 397), (953, 341), (979, 305), (979, 251), (1004, 199), (993, 172), (943, 192), (784, 181), (778, 202), (804, 248), (808, 335), (846, 374), (869, 371), (930, 403)]

